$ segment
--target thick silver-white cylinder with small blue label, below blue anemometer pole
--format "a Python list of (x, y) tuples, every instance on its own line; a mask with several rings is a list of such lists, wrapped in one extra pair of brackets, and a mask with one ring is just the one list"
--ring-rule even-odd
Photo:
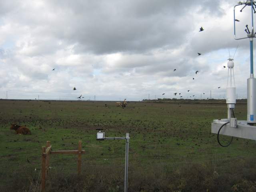
[(256, 123), (256, 78), (247, 79), (247, 122)]

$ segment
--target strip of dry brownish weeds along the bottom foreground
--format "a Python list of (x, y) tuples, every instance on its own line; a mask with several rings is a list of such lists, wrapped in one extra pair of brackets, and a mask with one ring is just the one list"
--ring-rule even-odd
[[(225, 168), (225, 169), (224, 169)], [(12, 183), (1, 187), (2, 192), (29, 191), (31, 174), (14, 172)], [(128, 190), (132, 192), (254, 192), (256, 191), (256, 165), (253, 158), (233, 162), (186, 163), (166, 167), (130, 166)], [(50, 172), (46, 182), (48, 192), (122, 192), (123, 167), (84, 167), (81, 176)], [(33, 182), (35, 183), (35, 181)], [(34, 185), (33, 185), (34, 186)]]

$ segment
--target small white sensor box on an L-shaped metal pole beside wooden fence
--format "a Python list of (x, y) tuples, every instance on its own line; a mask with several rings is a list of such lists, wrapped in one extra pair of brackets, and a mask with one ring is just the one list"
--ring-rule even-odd
[(105, 137), (105, 132), (102, 132), (101, 131), (102, 129), (96, 129), (96, 130), (98, 130), (96, 140), (118, 140), (118, 139), (126, 140), (125, 168), (124, 168), (124, 192), (127, 192), (127, 188), (128, 188), (128, 152), (129, 152), (129, 140), (130, 140), (129, 133), (126, 133), (125, 137)]

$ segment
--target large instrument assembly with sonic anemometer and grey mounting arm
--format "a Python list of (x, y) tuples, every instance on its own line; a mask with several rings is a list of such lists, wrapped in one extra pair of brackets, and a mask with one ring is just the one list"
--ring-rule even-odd
[[(237, 38), (236, 37), (236, 8), (239, 8), (240, 12), (248, 6), (251, 12), (251, 30), (249, 30), (248, 25), (244, 30), (247, 34), (246, 37)], [(212, 122), (212, 133), (218, 134), (218, 143), (227, 147), (232, 142), (233, 137), (245, 138), (256, 140), (256, 78), (253, 74), (253, 38), (255, 38), (254, 26), (253, 26), (253, 16), (256, 13), (256, 2), (254, 0), (247, 0), (245, 2), (238, 2), (234, 6), (234, 38), (236, 40), (249, 38), (250, 40), (250, 78), (247, 79), (247, 120), (237, 120), (234, 115), (234, 108), (236, 104), (236, 86), (234, 77), (234, 61), (233, 58), (228, 59), (228, 83), (226, 89), (226, 104), (228, 106), (227, 118), (216, 119)], [(232, 136), (230, 142), (227, 145), (221, 144), (219, 140), (219, 135)]]

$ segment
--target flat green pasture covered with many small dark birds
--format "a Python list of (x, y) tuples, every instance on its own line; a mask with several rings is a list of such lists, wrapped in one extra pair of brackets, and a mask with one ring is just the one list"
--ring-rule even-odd
[[(114, 102), (0, 100), (0, 108), (0, 189), (9, 192), (15, 189), (15, 185), (9, 186), (10, 182), (17, 177), (29, 180), (34, 168), (40, 168), (41, 148), (47, 140), (51, 141), (52, 150), (75, 150), (78, 140), (82, 140), (86, 151), (82, 155), (83, 170), (91, 171), (87, 176), (99, 167), (111, 168), (122, 183), (125, 142), (97, 141), (96, 128), (105, 129), (106, 136), (130, 133), (131, 174), (143, 168), (150, 175), (150, 169), (158, 167), (166, 174), (188, 164), (225, 168), (256, 154), (253, 140), (236, 138), (228, 148), (222, 148), (216, 134), (211, 134), (212, 120), (226, 117), (225, 104), (130, 102), (126, 108), (118, 108)], [(238, 104), (235, 113), (238, 119), (245, 120), (246, 104)], [(32, 134), (16, 135), (10, 130), (11, 123), (26, 125)], [(230, 140), (226, 136), (220, 138), (224, 143)], [(50, 166), (55, 173), (76, 174), (77, 157), (52, 155)], [(29, 182), (23, 186), (28, 189)]]

